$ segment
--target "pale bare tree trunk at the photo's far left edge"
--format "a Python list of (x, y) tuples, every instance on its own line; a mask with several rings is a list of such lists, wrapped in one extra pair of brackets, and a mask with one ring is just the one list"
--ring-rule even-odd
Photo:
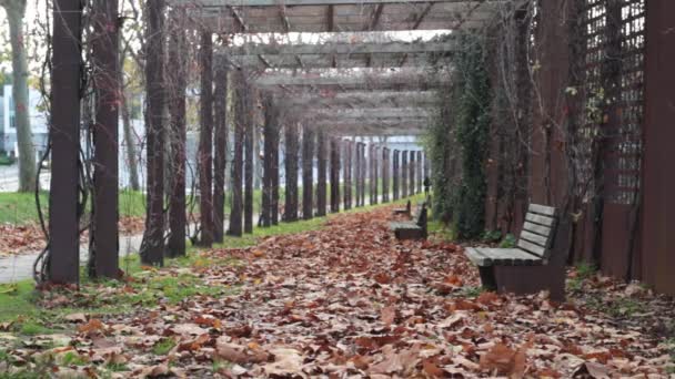
[(22, 29), (26, 0), (9, 1), (4, 4), (4, 9), (12, 45), (12, 96), (14, 99), (17, 144), (19, 145), (19, 192), (33, 192), (38, 182), (36, 177), (36, 150), (30, 129), (28, 62)]

